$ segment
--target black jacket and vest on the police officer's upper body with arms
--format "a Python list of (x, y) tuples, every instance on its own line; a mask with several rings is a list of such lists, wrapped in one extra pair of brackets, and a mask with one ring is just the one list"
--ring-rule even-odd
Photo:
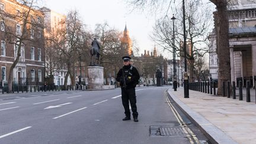
[[(128, 77), (130, 77), (130, 79)], [(126, 89), (129, 89), (129, 88), (136, 87), (136, 85), (139, 83), (139, 78), (140, 78), (139, 72), (134, 66), (132, 66), (131, 68), (131, 65), (129, 66), (124, 65), (123, 68), (121, 68), (117, 73), (116, 81), (120, 82), (121, 88), (125, 87)]]

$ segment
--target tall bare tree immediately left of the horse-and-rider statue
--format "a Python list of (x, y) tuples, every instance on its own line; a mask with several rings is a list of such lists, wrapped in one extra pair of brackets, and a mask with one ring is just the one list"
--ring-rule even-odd
[(57, 47), (60, 52), (60, 59), (65, 63), (68, 72), (65, 75), (64, 85), (66, 88), (68, 82), (68, 76), (71, 78), (71, 84), (75, 85), (75, 78), (73, 76), (73, 68), (78, 61), (78, 49), (81, 48), (81, 39), (84, 34), (84, 24), (79, 18), (79, 14), (76, 10), (69, 11), (66, 21), (63, 21), (66, 27), (57, 30), (59, 39), (57, 41)]

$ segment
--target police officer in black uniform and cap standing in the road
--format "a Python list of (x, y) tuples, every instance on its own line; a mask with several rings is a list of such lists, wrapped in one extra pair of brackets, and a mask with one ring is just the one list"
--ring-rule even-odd
[(132, 107), (133, 112), (133, 121), (139, 121), (137, 119), (137, 106), (136, 106), (136, 95), (135, 95), (135, 87), (139, 82), (139, 72), (137, 69), (130, 65), (130, 56), (123, 57), (124, 66), (117, 73), (116, 81), (120, 82), (121, 86), (121, 100), (124, 107), (124, 117), (123, 120), (130, 120), (130, 109), (129, 109), (129, 101)]

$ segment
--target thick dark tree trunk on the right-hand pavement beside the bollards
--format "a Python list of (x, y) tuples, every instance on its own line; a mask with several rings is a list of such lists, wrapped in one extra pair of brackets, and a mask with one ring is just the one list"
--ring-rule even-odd
[(231, 81), (231, 64), (229, 52), (229, 20), (227, 2), (217, 6), (217, 57), (219, 59), (219, 75), (217, 94), (222, 95), (223, 81)]

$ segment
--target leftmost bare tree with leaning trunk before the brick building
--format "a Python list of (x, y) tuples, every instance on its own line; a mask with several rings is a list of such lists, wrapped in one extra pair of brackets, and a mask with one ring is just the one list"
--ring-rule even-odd
[[(15, 44), (14, 62), (9, 69), (8, 88), (12, 90), (13, 71), (19, 60), (21, 59), (22, 51), (25, 44), (38, 41), (35, 36), (35, 31), (40, 31), (43, 34), (43, 14), (36, 6), (36, 0), (20, 0), (15, 1), (20, 5), (20, 9), (10, 7), (9, 11), (1, 10), (1, 20), (5, 25), (5, 40), (10, 44)], [(33, 39), (31, 39), (33, 37)], [(43, 43), (43, 41), (41, 41)]]

